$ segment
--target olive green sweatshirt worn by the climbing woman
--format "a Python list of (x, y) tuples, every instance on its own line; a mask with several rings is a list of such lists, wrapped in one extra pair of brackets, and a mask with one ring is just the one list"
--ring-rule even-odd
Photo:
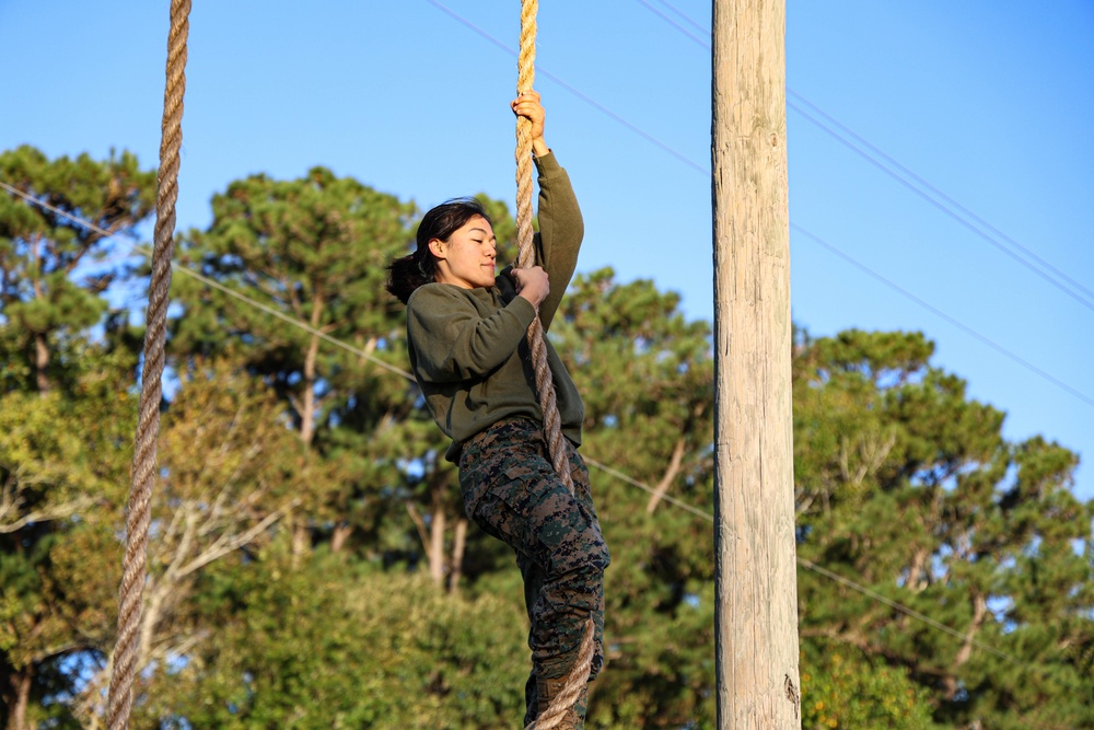
[[(547, 329), (573, 276), (584, 223), (570, 178), (555, 155), (535, 162), (539, 233), (534, 244), (536, 264), (550, 279), (550, 293), (539, 304), (539, 320)], [(457, 462), (467, 439), (503, 418), (525, 416), (543, 422), (526, 339), (535, 316), (535, 306), (516, 296), (508, 268), (492, 287), (427, 283), (410, 296), (410, 367), (433, 420), (452, 439), (445, 453), (449, 461)], [(580, 444), (581, 396), (549, 340), (546, 346), (562, 432)]]

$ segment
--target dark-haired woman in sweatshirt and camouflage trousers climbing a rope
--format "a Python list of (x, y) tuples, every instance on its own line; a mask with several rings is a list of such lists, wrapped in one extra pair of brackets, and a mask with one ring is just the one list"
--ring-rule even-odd
[[(566, 171), (544, 140), (535, 91), (511, 104), (531, 123), (539, 178), (535, 266), (496, 275), (493, 229), (482, 207), (461, 198), (422, 218), (417, 250), (388, 267), (387, 289), (407, 305), (410, 364), (433, 419), (452, 439), (468, 519), (516, 553), (532, 628), (525, 725), (542, 716), (579, 664), (592, 621), (592, 681), (603, 664), (604, 569), (601, 535), (578, 445), (581, 397), (546, 343), (565, 434), (571, 494), (551, 465), (544, 413), (525, 333), (546, 331), (578, 260), (584, 233)], [(587, 661), (587, 658), (585, 659)], [(585, 685), (558, 728), (583, 727)]]

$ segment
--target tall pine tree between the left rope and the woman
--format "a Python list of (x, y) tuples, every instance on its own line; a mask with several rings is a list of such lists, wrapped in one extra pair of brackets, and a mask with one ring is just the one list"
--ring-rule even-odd
[[(381, 364), (407, 367), (404, 311), (384, 283), (387, 262), (412, 241), (411, 204), (315, 167), (300, 179), (236, 181), (212, 207), (209, 229), (181, 241), (184, 266)], [(175, 278), (173, 294), (185, 306), (172, 325), (179, 361), (218, 354), (244, 363), (282, 399), (296, 434), (331, 474), (315, 485), (322, 496), (292, 518), (298, 533), (306, 533), (298, 545), (405, 554), (415, 529), (404, 501), (431, 510), (429, 485), (440, 478), (434, 470), (424, 479), (409, 477), (407, 454), (443, 451), (416, 387), (187, 277)], [(401, 520), (394, 535), (393, 517)]]

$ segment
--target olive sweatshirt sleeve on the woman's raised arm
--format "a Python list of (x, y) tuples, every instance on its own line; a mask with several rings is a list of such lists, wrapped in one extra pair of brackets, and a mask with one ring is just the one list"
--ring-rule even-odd
[(555, 153), (535, 158), (535, 163), (539, 173), (536, 263), (550, 277), (550, 293), (539, 304), (539, 321), (543, 322), (544, 329), (548, 329), (578, 266), (578, 252), (585, 234), (585, 224), (570, 176), (555, 159)]

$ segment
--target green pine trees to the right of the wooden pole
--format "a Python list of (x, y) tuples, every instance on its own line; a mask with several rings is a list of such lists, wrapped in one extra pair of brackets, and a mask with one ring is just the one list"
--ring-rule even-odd
[(1003, 415), (968, 401), (930, 352), (922, 335), (900, 333), (801, 348), (799, 554), (965, 638), (808, 571), (802, 634), (838, 636), (906, 669), (942, 722), (1019, 727), (1050, 705), (1086, 727), (1094, 715), (1074, 690), (1090, 677), (1071, 652), (1089, 642), (1094, 609), (1091, 506), (1071, 491), (1076, 456), (1039, 438), (1006, 443)]

